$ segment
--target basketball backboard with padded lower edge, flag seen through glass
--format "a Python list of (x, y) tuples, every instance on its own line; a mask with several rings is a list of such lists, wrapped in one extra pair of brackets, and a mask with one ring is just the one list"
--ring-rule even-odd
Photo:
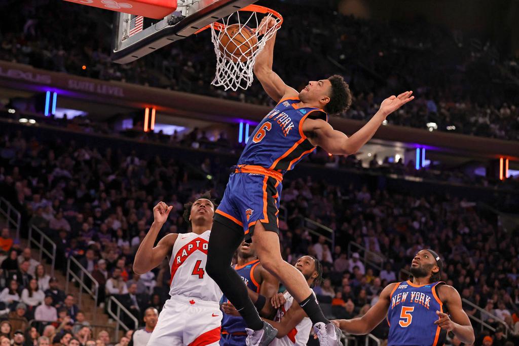
[(132, 62), (256, 1), (177, 0), (176, 11), (158, 21), (115, 12), (112, 60)]

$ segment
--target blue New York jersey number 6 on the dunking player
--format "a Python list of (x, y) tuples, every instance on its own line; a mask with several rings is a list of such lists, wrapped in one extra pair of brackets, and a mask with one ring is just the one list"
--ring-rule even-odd
[(328, 121), (319, 108), (299, 108), (299, 99), (284, 99), (256, 126), (241, 153), (238, 165), (254, 165), (287, 171), (316, 147), (303, 133), (307, 117)]

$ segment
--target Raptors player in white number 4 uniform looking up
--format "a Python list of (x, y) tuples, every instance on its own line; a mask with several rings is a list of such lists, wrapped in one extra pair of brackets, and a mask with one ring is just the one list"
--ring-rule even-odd
[(160, 202), (153, 208), (154, 222), (137, 250), (133, 271), (144, 274), (169, 257), (171, 298), (160, 312), (148, 346), (218, 345), (220, 341), (222, 291), (205, 272), (216, 207), (210, 198), (204, 195), (186, 204), (184, 216), (191, 222), (191, 233), (168, 234), (155, 247), (173, 207)]

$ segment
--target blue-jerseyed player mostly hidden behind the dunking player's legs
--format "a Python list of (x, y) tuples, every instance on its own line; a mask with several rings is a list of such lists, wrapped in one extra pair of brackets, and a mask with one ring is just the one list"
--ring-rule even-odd
[[(256, 249), (253, 243), (243, 241), (237, 251), (237, 263), (234, 270), (240, 275), (250, 294), (254, 295), (252, 301), (257, 311), (262, 316), (274, 315), (274, 309), (270, 305), (270, 299), (279, 290), (279, 281), (274, 275), (263, 268), (257, 259)], [(227, 314), (225, 306), (229, 305), (225, 296), (222, 298), (222, 336), (220, 346), (242, 346), (245, 344), (247, 325), (240, 314)]]

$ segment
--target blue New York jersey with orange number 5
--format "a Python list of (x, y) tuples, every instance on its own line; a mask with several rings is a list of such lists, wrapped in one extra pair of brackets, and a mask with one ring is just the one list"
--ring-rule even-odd
[(436, 286), (443, 282), (417, 286), (404, 281), (391, 292), (388, 310), (388, 346), (443, 345), (446, 332), (435, 325), (436, 311), (443, 311), (443, 303), (436, 294)]

